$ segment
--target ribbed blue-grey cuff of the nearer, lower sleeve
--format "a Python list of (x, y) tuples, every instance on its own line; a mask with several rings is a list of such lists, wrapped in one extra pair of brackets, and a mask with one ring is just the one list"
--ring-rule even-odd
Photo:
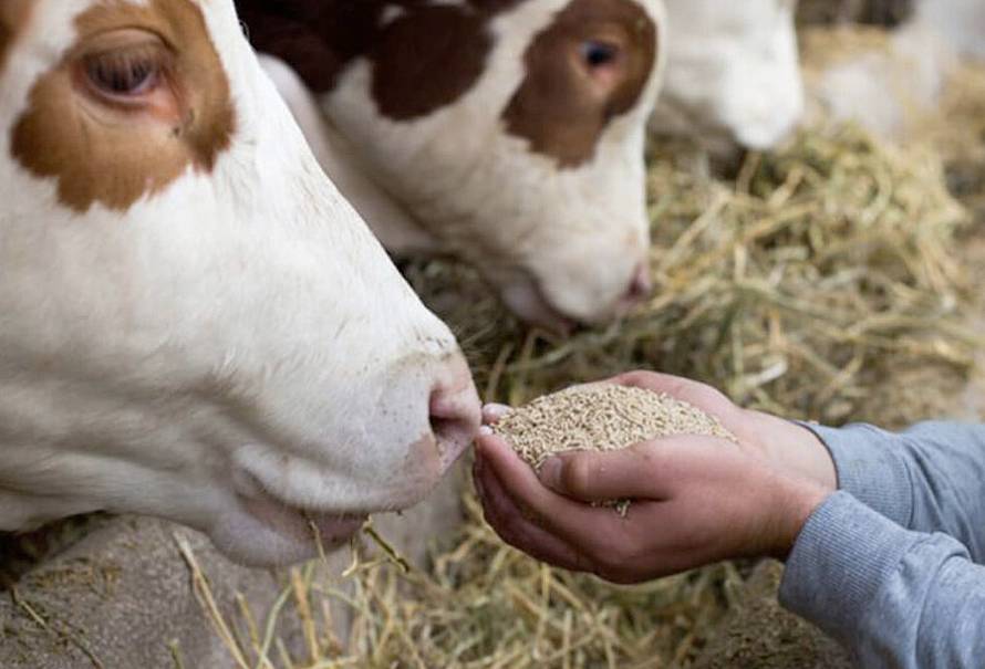
[(847, 492), (837, 492), (808, 519), (780, 584), (780, 604), (836, 639), (859, 621), (892, 578), (919, 535)]

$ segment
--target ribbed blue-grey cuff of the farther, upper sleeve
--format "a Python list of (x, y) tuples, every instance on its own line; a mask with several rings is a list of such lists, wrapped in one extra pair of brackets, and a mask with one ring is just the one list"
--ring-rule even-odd
[(900, 435), (870, 425), (827, 428), (801, 422), (827, 447), (838, 472), (838, 489), (894, 523), (913, 520), (913, 482)]

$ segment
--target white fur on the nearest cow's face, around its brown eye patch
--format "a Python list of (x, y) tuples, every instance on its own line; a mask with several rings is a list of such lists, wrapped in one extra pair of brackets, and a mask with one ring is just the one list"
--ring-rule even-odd
[(231, 0), (199, 2), (237, 113), (211, 174), (79, 215), (10, 157), (31, 84), (94, 1), (39, 0), (0, 76), (0, 530), (147, 513), (282, 563), (312, 550), (293, 506), (342, 540), (329, 515), (419, 500), (457, 454), (432, 436), (433, 389), (462, 386), (468, 416), (475, 391), (319, 168)]

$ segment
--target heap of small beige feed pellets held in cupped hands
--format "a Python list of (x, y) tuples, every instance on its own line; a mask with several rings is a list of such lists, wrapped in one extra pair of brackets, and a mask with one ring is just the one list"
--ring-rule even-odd
[[(616, 451), (675, 435), (738, 441), (717, 418), (665, 393), (602, 384), (545, 395), (504, 416), (494, 431), (535, 470), (554, 453)], [(606, 505), (629, 510), (624, 500)]]

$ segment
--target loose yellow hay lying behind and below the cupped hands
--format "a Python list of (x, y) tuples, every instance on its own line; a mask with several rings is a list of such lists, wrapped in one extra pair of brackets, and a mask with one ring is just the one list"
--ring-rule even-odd
[[(965, 92), (985, 90), (985, 77), (974, 81)], [(955, 96), (948, 105), (985, 105), (985, 94)], [(979, 150), (983, 130), (934, 130), (935, 147), (963, 134), (957, 151), (903, 150), (853, 127), (816, 129), (750, 156), (734, 179), (696, 174), (680, 147), (654, 147), (654, 297), (624, 323), (568, 341), (512, 323), (468, 270), (432, 262), (408, 274), (460, 334), (489, 400), (519, 404), (645, 367), (829, 424), (945, 414), (978, 342), (965, 326), (970, 286), (957, 261), (970, 217), (948, 194), (941, 156), (952, 185), (974, 192), (958, 164), (975, 157), (958, 154)], [(315, 578), (314, 566), (292, 572), (272, 611), (240, 611), (222, 631), (214, 609), (237, 666), (684, 667), (744, 581), (743, 568), (725, 564), (608, 586), (518, 554), (483, 523), (470, 493), (464, 505), (467, 522), (436, 537), (427, 572), (404, 573), (385, 544), (367, 541), (359, 553), (371, 562), (344, 578)], [(206, 582), (197, 583), (206, 597)], [(330, 620), (345, 610), (354, 626), (343, 652)], [(297, 623), (303, 654), (290, 657), (277, 640), (278, 619)]]

